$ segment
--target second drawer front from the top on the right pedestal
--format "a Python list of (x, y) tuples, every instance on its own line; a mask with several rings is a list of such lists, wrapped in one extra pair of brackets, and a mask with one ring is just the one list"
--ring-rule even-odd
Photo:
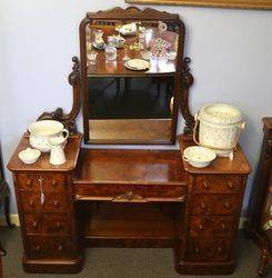
[(240, 205), (239, 195), (194, 195), (192, 215), (235, 215)]

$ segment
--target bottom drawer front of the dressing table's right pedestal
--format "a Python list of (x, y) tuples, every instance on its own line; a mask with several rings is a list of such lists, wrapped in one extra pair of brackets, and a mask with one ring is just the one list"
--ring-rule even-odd
[(198, 261), (224, 261), (229, 259), (230, 246), (230, 241), (225, 238), (191, 238), (187, 259)]

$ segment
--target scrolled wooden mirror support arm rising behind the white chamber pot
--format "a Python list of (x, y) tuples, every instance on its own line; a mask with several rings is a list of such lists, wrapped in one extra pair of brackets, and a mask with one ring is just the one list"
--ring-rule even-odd
[(62, 122), (70, 133), (77, 132), (75, 119), (81, 108), (80, 98), (80, 62), (78, 57), (72, 58), (72, 72), (69, 75), (69, 83), (73, 87), (73, 105), (70, 113), (64, 113), (62, 108), (57, 108), (53, 112), (43, 112), (38, 120), (58, 120)]

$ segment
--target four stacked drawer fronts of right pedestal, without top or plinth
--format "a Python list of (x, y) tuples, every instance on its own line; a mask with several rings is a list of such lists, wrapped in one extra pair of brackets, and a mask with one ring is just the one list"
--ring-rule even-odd
[(233, 239), (244, 191), (242, 176), (193, 177), (189, 202), (190, 228), (187, 259), (195, 261), (231, 261)]

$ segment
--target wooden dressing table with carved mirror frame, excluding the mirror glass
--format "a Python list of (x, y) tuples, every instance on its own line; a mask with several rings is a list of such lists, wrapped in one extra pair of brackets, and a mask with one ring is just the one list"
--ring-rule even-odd
[[(91, 131), (82, 30), (92, 20), (147, 20), (147, 17), (152, 21), (174, 20), (182, 30), (179, 39), (183, 42), (177, 59), (183, 62), (177, 63), (173, 73), (175, 100), (169, 118), (173, 121), (169, 143), (173, 143), (180, 107), (185, 119), (184, 133), (178, 137), (180, 150), (82, 148), (75, 127), (80, 90), (85, 142)], [(193, 78), (189, 59), (183, 60), (183, 43), (184, 27), (177, 14), (117, 8), (88, 14), (82, 21), (81, 67), (73, 58), (69, 77), (74, 96), (72, 110), (66, 115), (57, 109), (39, 118), (62, 121), (70, 129), (68, 161), (54, 167), (49, 163), (49, 155), (42, 153), (37, 163), (23, 165), (18, 152), (29, 146), (26, 133), (8, 165), (13, 172), (27, 272), (78, 272), (83, 267), (84, 247), (167, 247), (174, 249), (175, 269), (180, 274), (223, 275), (234, 270), (235, 237), (251, 169), (240, 147), (233, 161), (218, 158), (204, 169), (183, 163), (181, 151), (192, 145), (193, 128), (188, 108)], [(132, 141), (139, 143), (135, 138)], [(42, 205), (41, 187), (46, 197)]]

